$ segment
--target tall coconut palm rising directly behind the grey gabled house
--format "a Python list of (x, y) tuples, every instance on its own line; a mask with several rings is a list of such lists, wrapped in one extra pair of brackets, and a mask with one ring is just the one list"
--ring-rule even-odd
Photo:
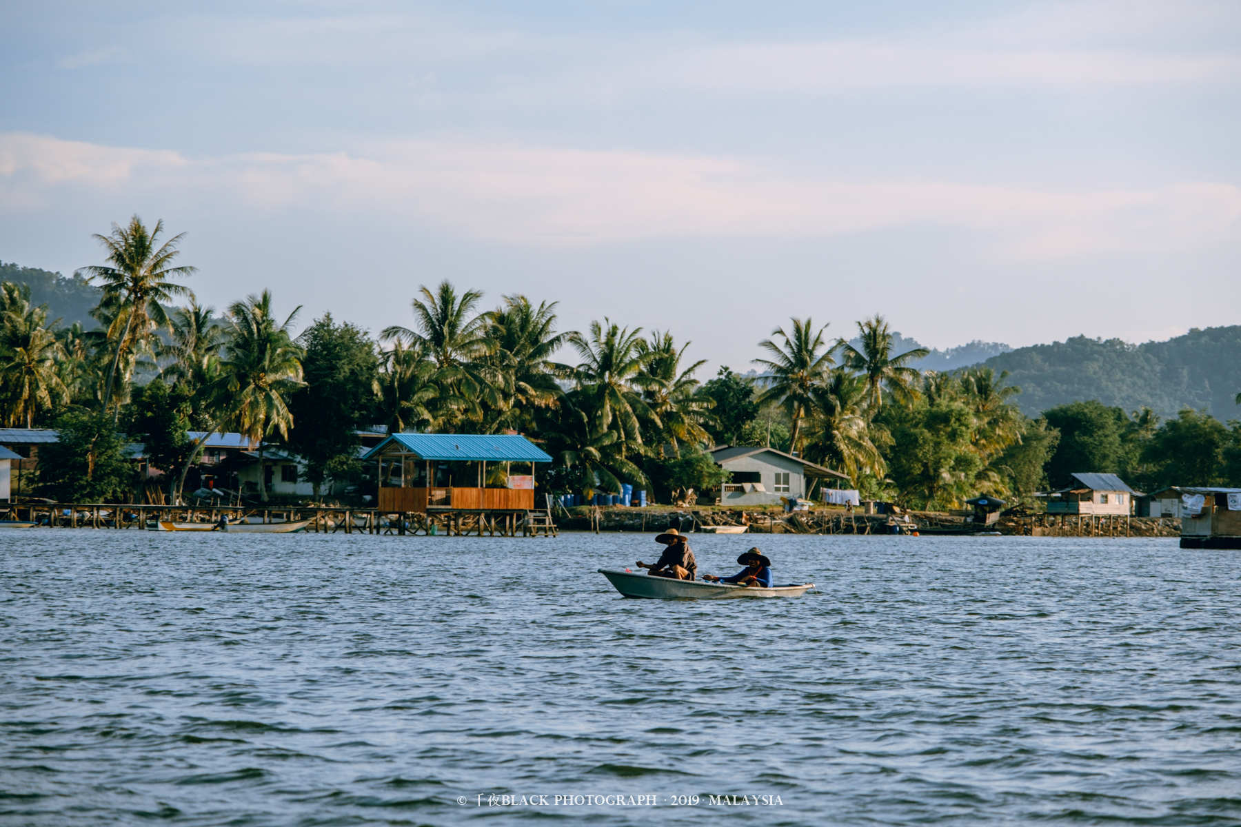
[(769, 377), (767, 388), (756, 402), (759, 405), (779, 404), (784, 408), (793, 422), (789, 445), (795, 451), (800, 443), (802, 419), (810, 404), (810, 392), (827, 381), (828, 369), (835, 365), (836, 345), (824, 350), (823, 331), (828, 325), (814, 330), (810, 319), (792, 319), (792, 334), (784, 332), (783, 327), (772, 331), (772, 336), (783, 340), (783, 346), (771, 338), (758, 342), (772, 357), (755, 360), (755, 365), (761, 366)]

